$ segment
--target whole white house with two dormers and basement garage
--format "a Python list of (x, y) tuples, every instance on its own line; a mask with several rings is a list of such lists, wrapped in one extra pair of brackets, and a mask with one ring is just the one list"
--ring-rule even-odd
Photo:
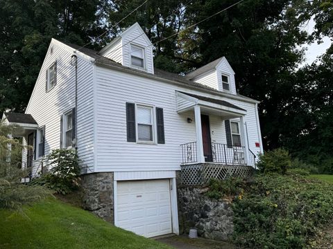
[(254, 167), (258, 103), (237, 93), (225, 57), (185, 77), (154, 68), (151, 41), (134, 24), (99, 52), (52, 39), (26, 114), (3, 119), (24, 128), (33, 149), (22, 167), (33, 177), (52, 149), (75, 147), (87, 208), (155, 237), (178, 234), (182, 167)]

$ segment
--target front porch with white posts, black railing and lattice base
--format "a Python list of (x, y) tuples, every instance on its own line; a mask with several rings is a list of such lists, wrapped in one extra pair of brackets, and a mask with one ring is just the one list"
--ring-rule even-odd
[[(202, 185), (210, 178), (245, 178), (252, 174), (256, 167), (256, 156), (248, 148), (244, 122), (246, 110), (224, 100), (178, 92), (177, 111), (180, 114), (193, 111), (196, 130), (194, 140), (180, 145), (181, 184)], [(223, 133), (223, 136), (219, 136), (221, 141), (212, 140), (214, 131), (210, 120), (215, 122), (215, 132)], [(219, 124), (216, 125), (216, 122)], [(223, 127), (225, 131), (222, 131)]]

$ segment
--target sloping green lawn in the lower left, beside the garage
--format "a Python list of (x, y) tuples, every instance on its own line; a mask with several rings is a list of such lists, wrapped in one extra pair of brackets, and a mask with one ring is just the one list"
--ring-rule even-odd
[(26, 207), (24, 214), (0, 210), (0, 248), (170, 249), (56, 199)]

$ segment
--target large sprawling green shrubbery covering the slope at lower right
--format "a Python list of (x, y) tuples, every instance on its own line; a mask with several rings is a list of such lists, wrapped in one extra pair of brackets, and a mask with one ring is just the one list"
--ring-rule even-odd
[(233, 239), (239, 246), (305, 248), (333, 219), (333, 188), (299, 174), (257, 175), (233, 210)]

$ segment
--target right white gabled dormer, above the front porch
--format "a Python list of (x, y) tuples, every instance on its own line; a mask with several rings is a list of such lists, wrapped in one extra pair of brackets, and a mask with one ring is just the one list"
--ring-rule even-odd
[(225, 57), (214, 60), (186, 75), (188, 80), (210, 86), (225, 93), (236, 94), (234, 71)]

